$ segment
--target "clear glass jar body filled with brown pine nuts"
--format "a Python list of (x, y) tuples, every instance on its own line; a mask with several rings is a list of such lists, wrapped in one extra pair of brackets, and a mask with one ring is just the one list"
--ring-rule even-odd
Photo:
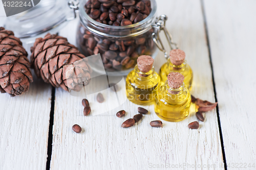
[(80, 2), (80, 22), (77, 29), (77, 46), (85, 56), (100, 53), (102, 61), (90, 63), (92, 69), (100, 74), (98, 65), (103, 62), (109, 75), (127, 75), (137, 64), (141, 55), (155, 58), (158, 49), (152, 39), (156, 21), (157, 4), (151, 0), (152, 11), (145, 19), (129, 26), (110, 26), (92, 19), (85, 11), (87, 1)]

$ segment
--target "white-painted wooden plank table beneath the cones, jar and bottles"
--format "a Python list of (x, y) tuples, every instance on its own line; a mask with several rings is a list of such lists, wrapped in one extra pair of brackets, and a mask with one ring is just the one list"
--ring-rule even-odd
[[(191, 93), (218, 101), (200, 128), (187, 128), (195, 113), (151, 128), (159, 118), (146, 106), (150, 114), (140, 124), (122, 129), (138, 105), (126, 101), (117, 108), (127, 111), (123, 118), (115, 111), (85, 117), (82, 98), (35, 78), (21, 96), (0, 94), (0, 169), (256, 169), (256, 1), (157, 3), (194, 71)], [(78, 21), (59, 35), (75, 44)], [(164, 62), (159, 53), (156, 69)], [(83, 133), (74, 133), (74, 124)]]

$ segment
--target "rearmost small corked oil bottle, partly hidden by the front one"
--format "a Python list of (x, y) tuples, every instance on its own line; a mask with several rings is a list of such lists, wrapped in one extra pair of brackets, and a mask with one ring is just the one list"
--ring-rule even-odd
[(189, 90), (192, 89), (193, 71), (190, 66), (186, 63), (185, 53), (180, 49), (170, 51), (170, 57), (167, 62), (164, 63), (161, 68), (159, 75), (161, 77), (161, 86), (167, 80), (167, 75), (170, 72), (179, 72), (184, 76), (185, 87)]

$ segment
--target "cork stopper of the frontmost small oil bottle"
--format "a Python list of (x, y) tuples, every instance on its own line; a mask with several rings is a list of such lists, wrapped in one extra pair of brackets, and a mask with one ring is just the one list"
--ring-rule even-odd
[(184, 76), (179, 72), (170, 72), (167, 76), (168, 85), (172, 89), (180, 88), (184, 81)]

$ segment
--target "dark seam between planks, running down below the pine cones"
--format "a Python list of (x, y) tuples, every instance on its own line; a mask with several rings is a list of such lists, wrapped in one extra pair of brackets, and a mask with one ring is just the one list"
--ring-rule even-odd
[(46, 170), (50, 169), (51, 157), (52, 157), (52, 138), (53, 138), (53, 122), (54, 122), (54, 105), (55, 105), (55, 87), (52, 87), (52, 99), (51, 99), (51, 111), (49, 120), (49, 132), (48, 132), (48, 148), (47, 148), (47, 162)]

